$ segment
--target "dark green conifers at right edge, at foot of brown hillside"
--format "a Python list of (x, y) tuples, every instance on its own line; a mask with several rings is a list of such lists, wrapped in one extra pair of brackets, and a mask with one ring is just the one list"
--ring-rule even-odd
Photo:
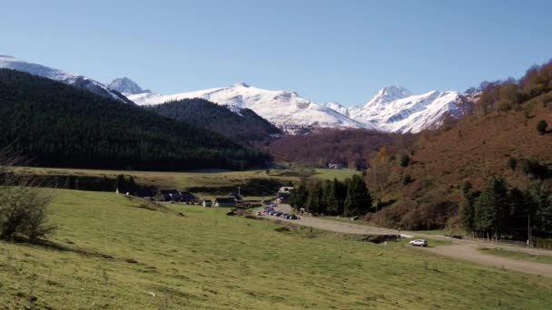
[(527, 240), (527, 228), (535, 237), (552, 237), (552, 196), (541, 183), (527, 189), (510, 188), (506, 180), (493, 178), (481, 192), (463, 185), (464, 228), (477, 237)]

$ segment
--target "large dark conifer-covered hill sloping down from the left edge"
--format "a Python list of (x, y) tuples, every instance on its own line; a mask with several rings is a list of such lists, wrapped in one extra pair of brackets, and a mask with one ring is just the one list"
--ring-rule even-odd
[(270, 157), (222, 135), (13, 70), (0, 70), (0, 147), (35, 165), (246, 169)]

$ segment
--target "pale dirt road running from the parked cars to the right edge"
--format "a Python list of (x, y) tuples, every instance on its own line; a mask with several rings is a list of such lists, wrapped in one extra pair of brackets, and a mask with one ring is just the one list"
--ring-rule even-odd
[[(276, 209), (281, 212), (288, 212), (288, 213), (291, 211), (291, 207), (289, 205), (280, 205)], [(270, 216), (263, 216), (263, 217), (272, 218)], [(339, 222), (339, 221), (323, 219), (323, 218), (301, 217), (301, 219), (299, 220), (291, 220), (291, 219), (284, 219), (284, 218), (277, 218), (277, 219), (284, 222), (291, 222), (297, 225), (330, 230), (330, 231), (335, 231), (340, 233), (347, 233), (347, 234), (362, 234), (362, 235), (399, 234), (402, 237), (415, 236), (415, 237), (421, 237), (421, 238), (427, 238), (427, 239), (446, 240), (446, 241), (452, 242), (453, 245), (429, 247), (429, 248), (423, 248), (423, 250), (431, 251), (433, 253), (444, 255), (447, 257), (454, 257), (458, 259), (468, 260), (470, 262), (475, 262), (478, 264), (497, 266), (499, 268), (525, 272), (527, 274), (540, 275), (540, 276), (552, 276), (552, 264), (544, 264), (544, 263), (531, 262), (527, 260), (488, 255), (479, 251), (478, 248), (492, 247), (492, 248), (500, 248), (500, 249), (524, 252), (524, 253), (534, 254), (534, 255), (552, 256), (552, 251), (549, 251), (549, 250), (530, 248), (530, 247), (507, 246), (507, 245), (487, 243), (487, 242), (471, 240), (471, 239), (457, 239), (457, 238), (441, 236), (441, 235), (426, 235), (426, 234), (419, 234), (416, 232), (409, 232), (409, 231), (405, 232), (405, 231), (399, 231), (399, 230), (388, 229), (388, 228), (374, 228), (366, 225), (345, 223), (345, 222)]]

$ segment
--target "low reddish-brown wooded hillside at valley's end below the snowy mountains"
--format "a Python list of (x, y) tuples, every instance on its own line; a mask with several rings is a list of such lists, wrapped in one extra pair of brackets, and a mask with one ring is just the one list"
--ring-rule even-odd
[(401, 148), (414, 141), (409, 134), (368, 130), (320, 129), (309, 135), (284, 136), (268, 147), (276, 161), (300, 161), (311, 165), (340, 163), (344, 167), (366, 168), (367, 159), (381, 147)]

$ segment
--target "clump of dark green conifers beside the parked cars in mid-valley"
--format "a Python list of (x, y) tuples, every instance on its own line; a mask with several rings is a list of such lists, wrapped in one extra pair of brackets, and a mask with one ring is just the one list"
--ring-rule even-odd
[(303, 179), (291, 189), (290, 205), (316, 215), (362, 216), (372, 205), (370, 191), (359, 175), (338, 179)]

